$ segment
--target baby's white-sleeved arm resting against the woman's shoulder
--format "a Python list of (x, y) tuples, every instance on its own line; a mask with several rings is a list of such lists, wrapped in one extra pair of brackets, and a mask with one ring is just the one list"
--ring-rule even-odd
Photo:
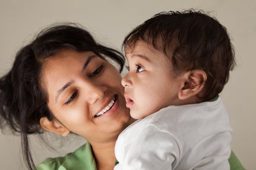
[(118, 137), (115, 170), (173, 170), (177, 166), (179, 148), (170, 133), (149, 125), (135, 138), (127, 136)]

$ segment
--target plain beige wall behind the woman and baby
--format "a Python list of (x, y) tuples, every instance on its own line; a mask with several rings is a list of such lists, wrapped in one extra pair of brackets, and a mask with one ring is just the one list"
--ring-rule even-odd
[[(198, 8), (226, 26), (236, 49), (238, 66), (222, 98), (234, 129), (232, 149), (248, 170), (256, 167), (256, 1), (255, 0), (0, 0), (0, 75), (12, 65), (15, 53), (45, 26), (78, 22), (104, 44), (120, 50), (124, 35), (161, 11)], [(58, 152), (49, 151), (32, 136), (36, 164), (77, 148), (81, 141), (70, 136)], [(54, 147), (63, 139), (50, 136)], [(0, 169), (24, 170), (19, 136), (0, 133)]]

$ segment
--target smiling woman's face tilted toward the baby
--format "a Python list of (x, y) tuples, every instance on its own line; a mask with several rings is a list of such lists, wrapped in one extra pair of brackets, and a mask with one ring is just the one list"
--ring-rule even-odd
[(57, 52), (43, 65), (42, 86), (55, 118), (89, 142), (116, 139), (131, 119), (118, 70), (93, 52)]

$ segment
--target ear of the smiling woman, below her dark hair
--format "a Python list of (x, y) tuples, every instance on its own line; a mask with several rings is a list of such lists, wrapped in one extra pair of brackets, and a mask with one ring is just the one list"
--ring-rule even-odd
[(53, 119), (52, 121), (50, 121), (48, 118), (42, 117), (40, 119), (40, 125), (44, 130), (53, 132), (61, 136), (67, 136), (68, 134), (70, 134), (70, 130), (63, 126), (57, 119)]

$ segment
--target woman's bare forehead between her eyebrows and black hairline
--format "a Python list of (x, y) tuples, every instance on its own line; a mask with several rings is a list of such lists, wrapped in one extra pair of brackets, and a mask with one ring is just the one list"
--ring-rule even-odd
[[(41, 71), (41, 84), (47, 93), (56, 90), (64, 82), (72, 81), (78, 75), (93, 52), (77, 52), (72, 50), (58, 51), (48, 58)], [(50, 87), (50, 88), (49, 88)]]

